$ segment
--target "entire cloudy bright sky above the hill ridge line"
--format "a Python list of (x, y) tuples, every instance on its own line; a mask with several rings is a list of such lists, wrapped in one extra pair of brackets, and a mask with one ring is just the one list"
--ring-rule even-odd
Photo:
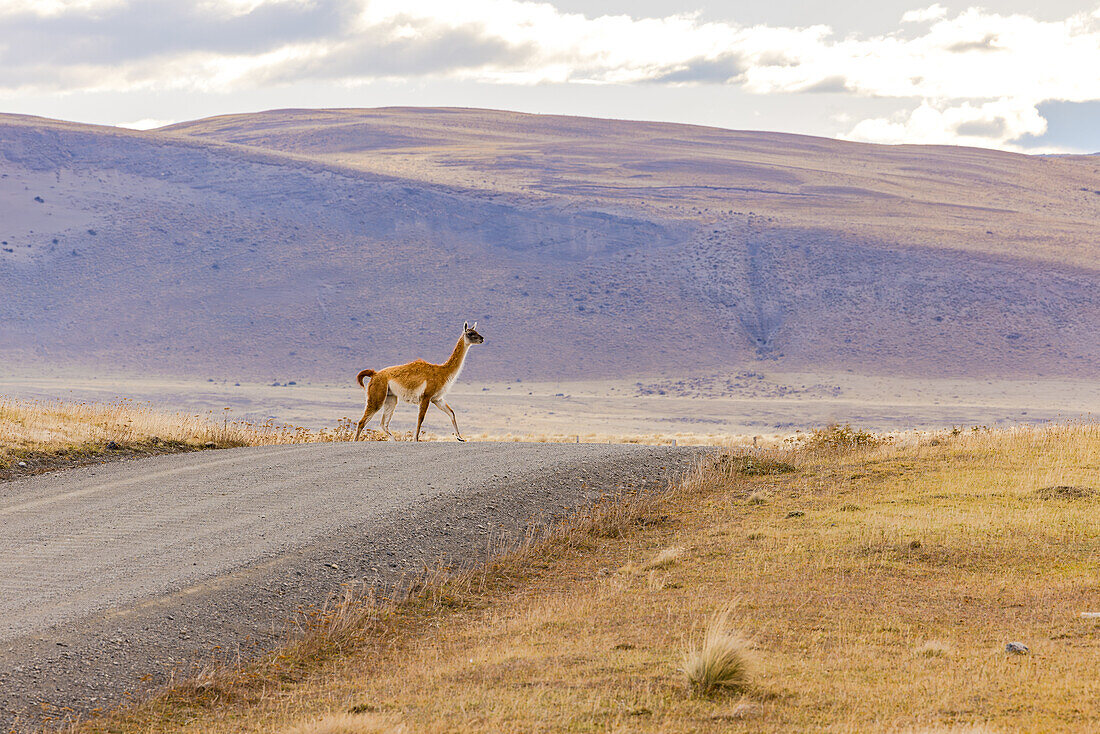
[(0, 0), (0, 112), (485, 107), (1100, 151), (1100, 0)]

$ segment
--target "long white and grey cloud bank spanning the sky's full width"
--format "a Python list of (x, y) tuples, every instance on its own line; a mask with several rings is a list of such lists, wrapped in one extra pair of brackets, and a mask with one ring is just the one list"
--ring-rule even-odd
[(923, 100), (847, 136), (1001, 147), (1042, 134), (1044, 102), (1100, 99), (1100, 9), (1038, 20), (936, 3), (901, 23), (920, 25), (838, 37), (826, 25), (588, 17), (532, 0), (0, 0), (0, 98), (315, 79), (736, 85)]

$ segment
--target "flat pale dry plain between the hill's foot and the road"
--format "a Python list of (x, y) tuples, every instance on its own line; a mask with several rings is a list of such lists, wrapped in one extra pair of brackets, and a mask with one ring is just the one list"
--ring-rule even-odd
[[(476, 357), (476, 355), (475, 355)], [(334, 428), (362, 414), (351, 380), (257, 384), (157, 376), (14, 371), (0, 394), (41, 399), (148, 402), (168, 412)], [(832, 423), (906, 431), (1042, 424), (1100, 415), (1100, 384), (1089, 380), (965, 380), (864, 376), (853, 373), (738, 371), (723, 376), (640, 380), (459, 382), (450, 403), (459, 426), (477, 440), (574, 440), (776, 445)], [(226, 410), (226, 408), (230, 408)], [(411, 429), (405, 405), (394, 426)], [(377, 424), (375, 419), (374, 425)], [(428, 414), (427, 430), (448, 440), (448, 421)]]

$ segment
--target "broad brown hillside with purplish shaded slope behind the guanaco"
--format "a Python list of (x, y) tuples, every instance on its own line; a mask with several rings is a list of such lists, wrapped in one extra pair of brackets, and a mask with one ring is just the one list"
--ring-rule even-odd
[(0, 344), (343, 380), (1100, 372), (1100, 161), (458, 109), (0, 116)]

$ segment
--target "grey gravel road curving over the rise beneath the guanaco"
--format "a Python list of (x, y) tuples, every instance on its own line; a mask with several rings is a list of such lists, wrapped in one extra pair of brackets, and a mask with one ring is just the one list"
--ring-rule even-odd
[(0, 483), (0, 728), (107, 708), (295, 610), (385, 585), (622, 489), (686, 448), (320, 443), (120, 461)]

